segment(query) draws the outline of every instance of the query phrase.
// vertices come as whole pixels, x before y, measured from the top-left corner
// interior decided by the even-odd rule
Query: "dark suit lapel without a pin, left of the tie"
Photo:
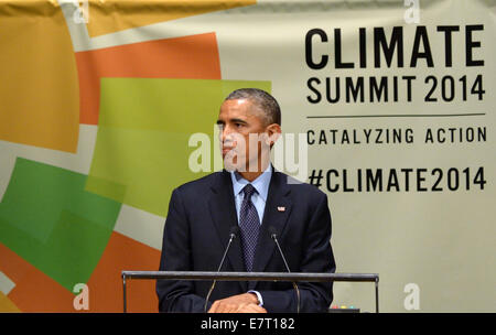
[[[211,208],[211,216],[224,251],[224,248],[227,247],[227,242],[229,241],[231,227],[238,224],[230,174],[227,171],[219,173],[217,180],[212,184],[211,188],[213,193],[208,199],[208,207]],[[227,253],[227,259],[234,271],[246,271],[245,261],[242,260],[241,240],[239,234],[233,240],[230,249]],[[223,266],[223,270],[224,269],[226,269],[226,264]],[[239,283],[246,291],[246,282]]]

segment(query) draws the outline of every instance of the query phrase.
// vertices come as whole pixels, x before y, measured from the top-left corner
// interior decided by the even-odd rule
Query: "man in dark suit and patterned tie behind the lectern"
[[[334,272],[326,195],[270,164],[281,134],[276,99],[259,89],[235,90],[223,102],[217,125],[225,170],[173,191],[160,270],[216,271],[237,225],[238,238],[222,271],[285,272],[271,239],[274,230],[291,272]],[[332,283],[298,287],[299,299],[289,282],[219,281],[206,305],[212,313],[327,310]],[[159,310],[204,312],[209,288],[205,281],[158,280]]]

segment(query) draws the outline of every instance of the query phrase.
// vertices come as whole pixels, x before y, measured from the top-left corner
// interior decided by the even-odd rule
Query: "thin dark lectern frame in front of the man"
[[[127,280],[216,280],[216,281],[289,281],[289,282],[374,282],[376,313],[379,313],[379,274],[305,273],[305,272],[202,272],[202,271],[122,271],[123,312],[127,312]]]

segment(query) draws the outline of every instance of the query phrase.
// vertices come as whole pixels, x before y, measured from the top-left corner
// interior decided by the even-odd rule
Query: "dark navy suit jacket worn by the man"
[[[293,180],[294,181],[294,180]],[[173,191],[165,220],[160,270],[217,271],[237,225],[233,183],[227,171],[216,172]],[[278,210],[285,207],[285,210]],[[271,239],[273,226],[291,272],[334,272],[331,215],[327,196],[309,184],[289,184],[288,175],[273,171],[260,227],[254,272],[287,272]],[[234,241],[222,271],[246,271],[240,237]],[[203,312],[209,281],[157,281],[159,311]],[[301,312],[325,312],[332,283],[299,283]],[[290,282],[218,281],[213,301],[259,291],[268,312],[295,312],[296,294]]]

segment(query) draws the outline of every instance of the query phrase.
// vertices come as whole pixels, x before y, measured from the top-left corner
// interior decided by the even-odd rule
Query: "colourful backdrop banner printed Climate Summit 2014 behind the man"
[[[120,312],[172,190],[222,169],[234,89],[325,192],[381,312],[494,312],[495,0],[0,0],[0,311]],[[493,41],[493,42],[492,42]],[[157,312],[153,281],[128,310]],[[370,283],[333,305],[375,311]]]

